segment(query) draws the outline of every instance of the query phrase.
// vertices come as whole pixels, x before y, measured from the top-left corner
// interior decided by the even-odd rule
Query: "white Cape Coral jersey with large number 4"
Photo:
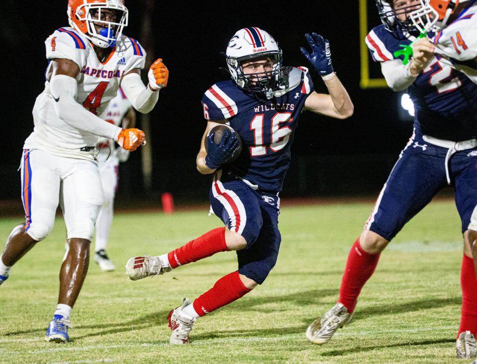
[[[49,62],[69,59],[78,65],[76,101],[102,119],[106,116],[109,101],[117,95],[121,77],[133,69],[143,69],[146,59],[146,52],[136,40],[121,35],[107,59],[100,62],[89,41],[71,27],[56,30],[47,38],[45,45]],[[51,64],[46,74],[50,67]],[[33,121],[34,130],[26,139],[24,148],[94,159],[97,136],[75,129],[58,118],[48,80],[33,107]]]

